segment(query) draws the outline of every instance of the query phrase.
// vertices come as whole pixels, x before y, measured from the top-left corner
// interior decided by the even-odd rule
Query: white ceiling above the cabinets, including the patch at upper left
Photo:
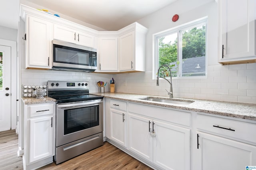
[[[0,25],[18,28],[19,0],[0,0]],[[26,0],[105,30],[115,31],[170,5],[176,0]],[[4,6],[4,8],[3,8]],[[18,9],[18,10],[17,10]],[[4,10],[4,11],[3,11]],[[60,16],[61,17],[61,16]],[[15,26],[16,25],[16,26]]]

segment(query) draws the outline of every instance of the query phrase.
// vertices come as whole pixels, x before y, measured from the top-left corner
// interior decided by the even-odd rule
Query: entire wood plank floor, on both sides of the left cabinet
[[[0,170],[22,170],[22,158],[17,157],[18,135],[15,131],[0,132]],[[4,150],[2,150],[4,149]],[[104,142],[102,147],[39,170],[152,170],[122,150]]]

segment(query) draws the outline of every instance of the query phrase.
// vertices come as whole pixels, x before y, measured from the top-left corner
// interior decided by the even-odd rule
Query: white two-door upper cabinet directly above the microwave
[[[66,25],[54,24],[53,39],[58,39],[61,41],[66,41],[94,48],[93,35],[90,35],[82,31],[78,31],[76,29],[72,29],[70,27],[67,27]]]

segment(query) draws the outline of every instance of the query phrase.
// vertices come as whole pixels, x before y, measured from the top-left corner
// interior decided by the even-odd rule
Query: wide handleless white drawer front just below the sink
[[[129,103],[129,112],[152,117],[152,119],[161,119],[179,125],[190,126],[191,114],[189,112],[164,109],[159,107],[145,106]]]

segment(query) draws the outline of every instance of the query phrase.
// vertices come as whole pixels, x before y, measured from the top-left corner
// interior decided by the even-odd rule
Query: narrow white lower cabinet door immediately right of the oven
[[[110,139],[126,147],[126,113],[110,109]]]

